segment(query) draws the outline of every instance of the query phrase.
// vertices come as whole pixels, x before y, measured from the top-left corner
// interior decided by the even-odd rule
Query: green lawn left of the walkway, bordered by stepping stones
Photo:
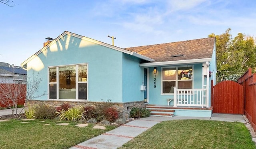
[[[50,120],[20,122],[17,120],[0,122],[0,149],[67,149],[116,128],[106,126],[105,130],[93,129],[92,124],[81,128],[75,126],[78,122],[68,122],[69,125],[63,126],[56,125],[56,122]],[[42,123],[50,125],[42,125]]]

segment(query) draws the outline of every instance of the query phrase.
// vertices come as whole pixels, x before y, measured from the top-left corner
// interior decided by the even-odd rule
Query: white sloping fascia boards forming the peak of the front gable
[[[91,38],[87,38],[85,36],[81,36],[81,35],[78,35],[78,34],[74,34],[74,33],[70,33],[68,31],[65,31],[63,34],[61,34],[60,36],[58,36],[56,39],[52,40],[52,42],[50,42],[50,44],[48,44],[47,46],[43,47],[41,50],[39,50],[38,52],[36,52],[36,54],[30,56],[30,58],[28,58],[27,60],[25,60],[21,66],[26,66],[26,64],[32,60],[35,56],[37,56],[38,54],[42,53],[44,50],[46,50],[48,47],[50,47],[52,44],[56,43],[60,38],[62,38],[63,36],[65,35],[70,35],[70,36],[74,36],[76,38],[80,38],[81,40],[87,40],[89,42],[92,42],[92,43],[95,43],[95,44],[98,44],[98,45],[101,45],[101,46],[105,46],[107,48],[111,48],[111,49],[114,49],[114,50],[117,50],[117,51],[120,51],[120,52],[123,52],[123,53],[126,53],[126,54],[130,54],[132,55],[132,52],[131,51],[128,51],[128,50],[125,50],[125,49],[122,49],[122,48],[119,48],[119,47],[116,47],[116,46],[112,46],[110,44],[106,44],[104,42],[100,42],[100,41],[97,41],[97,40],[94,40],[94,39],[91,39]],[[140,55],[140,54],[138,54]],[[134,55],[135,56],[135,55]],[[138,56],[136,56],[138,57]],[[150,62],[152,62],[152,59],[146,57],[146,56],[142,56],[140,55],[140,57],[138,58],[142,58],[143,60],[148,60]]]

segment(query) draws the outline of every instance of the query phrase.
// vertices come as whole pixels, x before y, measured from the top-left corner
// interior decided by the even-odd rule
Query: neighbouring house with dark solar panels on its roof
[[[20,66],[0,62],[0,83],[22,83],[26,84],[27,71]]]

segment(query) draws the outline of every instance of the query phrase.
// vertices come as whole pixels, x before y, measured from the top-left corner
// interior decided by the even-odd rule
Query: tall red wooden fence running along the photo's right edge
[[[244,86],[244,113],[256,131],[256,73],[249,68],[238,83]]]

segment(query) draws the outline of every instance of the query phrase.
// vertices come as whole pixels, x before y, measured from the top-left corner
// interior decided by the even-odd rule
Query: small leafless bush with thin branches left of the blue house
[[[20,82],[10,83],[10,81],[7,81],[8,79],[5,79],[5,81],[0,84],[0,103],[12,109],[12,115],[15,118],[20,116],[26,103],[28,103],[30,99],[46,95],[46,91],[44,91],[42,94],[34,96],[34,93],[38,92],[38,87],[42,81],[38,75],[39,73],[35,74],[35,71],[33,71],[32,77],[27,77],[26,84]],[[19,111],[18,104],[21,103],[22,100],[25,100],[24,107]]]

